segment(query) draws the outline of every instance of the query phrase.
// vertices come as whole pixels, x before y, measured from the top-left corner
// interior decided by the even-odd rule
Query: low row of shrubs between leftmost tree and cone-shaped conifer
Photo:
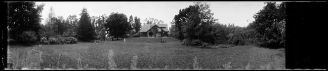
[[[43,44],[72,44],[72,43],[78,43],[78,39],[75,37],[50,37],[49,39],[46,39],[45,37],[41,38],[41,43]]]

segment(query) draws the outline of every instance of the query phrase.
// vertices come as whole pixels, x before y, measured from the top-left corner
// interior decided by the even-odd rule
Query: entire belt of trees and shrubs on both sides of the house
[[[45,24],[41,24],[41,11],[45,4],[35,2],[8,2],[7,20],[9,36],[22,41],[38,41],[42,37],[76,37],[82,41],[137,36],[140,31],[140,18],[123,13],[89,16],[86,8],[79,14],[64,19],[55,16],[50,8]],[[273,46],[285,45],[285,2],[265,2],[266,6],[254,14],[255,21],[247,27],[234,24],[223,25],[212,16],[209,4],[194,2],[180,9],[174,16],[169,28],[171,36],[183,40],[187,45],[202,44],[254,44],[264,43]],[[144,24],[161,24],[162,20],[146,18]]]

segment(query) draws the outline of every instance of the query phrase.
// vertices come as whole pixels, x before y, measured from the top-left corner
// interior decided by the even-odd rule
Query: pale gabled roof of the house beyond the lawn
[[[147,24],[147,25],[143,25],[142,26],[142,29],[139,31],[139,32],[147,32],[149,29],[151,29],[152,27],[150,26],[158,26],[158,27],[165,27],[165,29],[162,29],[164,30],[165,32],[168,32],[167,30],[167,24]]]

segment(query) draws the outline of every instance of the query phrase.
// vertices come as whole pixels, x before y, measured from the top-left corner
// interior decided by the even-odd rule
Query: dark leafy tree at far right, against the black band
[[[267,5],[253,17],[255,21],[250,25],[260,38],[268,45],[285,45],[285,2],[265,2]]]

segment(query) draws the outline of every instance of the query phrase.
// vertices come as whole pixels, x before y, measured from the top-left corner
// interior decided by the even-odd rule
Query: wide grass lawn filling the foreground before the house
[[[175,38],[126,38],[64,45],[10,45],[14,69],[285,69],[285,49],[205,49]]]

